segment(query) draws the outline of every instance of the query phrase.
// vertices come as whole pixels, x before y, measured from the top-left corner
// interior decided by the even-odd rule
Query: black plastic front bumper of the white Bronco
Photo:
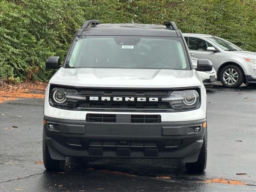
[[[196,162],[206,119],[184,122],[96,123],[44,117],[44,133],[52,159],[67,156],[114,158],[178,158]],[[50,125],[50,126],[49,126]],[[200,128],[194,132],[194,128]]]

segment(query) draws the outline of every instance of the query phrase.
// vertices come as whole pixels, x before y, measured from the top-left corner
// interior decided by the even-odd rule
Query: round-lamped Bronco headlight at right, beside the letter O
[[[174,91],[168,98],[162,101],[169,101],[172,108],[177,110],[195,108],[199,102],[199,94],[196,90]]]

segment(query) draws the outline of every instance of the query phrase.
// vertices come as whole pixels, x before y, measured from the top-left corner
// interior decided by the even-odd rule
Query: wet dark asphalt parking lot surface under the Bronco
[[[208,161],[188,174],[178,160],[68,158],[64,172],[42,164],[43,100],[0,104],[0,191],[256,191],[256,88],[207,91]]]

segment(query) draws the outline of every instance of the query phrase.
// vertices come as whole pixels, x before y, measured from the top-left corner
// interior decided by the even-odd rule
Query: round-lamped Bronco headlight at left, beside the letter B
[[[80,96],[76,90],[53,88],[50,93],[52,104],[58,106],[75,106],[79,100],[86,100],[85,96]]]

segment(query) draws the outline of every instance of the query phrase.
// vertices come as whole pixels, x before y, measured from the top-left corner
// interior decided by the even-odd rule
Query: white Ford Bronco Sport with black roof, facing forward
[[[206,168],[206,90],[174,22],[84,22],[45,93],[43,158],[176,158]],[[211,71],[199,59],[199,71]]]

